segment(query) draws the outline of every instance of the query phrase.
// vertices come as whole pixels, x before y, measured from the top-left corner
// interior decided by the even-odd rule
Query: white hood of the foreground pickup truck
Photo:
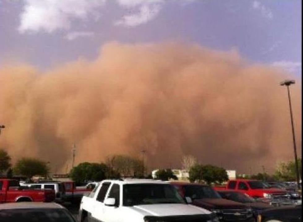
[[[131,207],[144,216],[174,216],[174,215],[196,215],[211,214],[210,211],[189,204],[147,204]]]

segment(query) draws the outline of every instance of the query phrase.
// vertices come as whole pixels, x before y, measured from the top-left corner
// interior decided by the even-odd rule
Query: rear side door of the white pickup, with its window
[[[96,201],[93,202],[91,221],[106,221],[104,216],[104,199],[110,187],[110,182],[103,182],[99,193],[97,194]],[[107,221],[106,221],[107,222]]]

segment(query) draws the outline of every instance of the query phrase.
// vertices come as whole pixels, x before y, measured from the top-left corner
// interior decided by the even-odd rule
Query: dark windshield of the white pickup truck
[[[185,203],[170,184],[125,184],[123,206],[157,203]]]

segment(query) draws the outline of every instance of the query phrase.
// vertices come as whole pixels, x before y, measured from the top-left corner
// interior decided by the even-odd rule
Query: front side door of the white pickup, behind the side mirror
[[[120,222],[120,185],[114,183],[110,187],[107,198],[115,198],[115,206],[106,206],[104,205],[103,213],[106,222]],[[125,218],[124,218],[125,219]]]

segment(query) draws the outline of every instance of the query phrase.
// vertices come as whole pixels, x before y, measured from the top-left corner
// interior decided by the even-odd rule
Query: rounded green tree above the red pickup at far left
[[[32,176],[46,176],[49,169],[45,162],[34,158],[22,158],[17,161],[13,168],[14,174],[32,178]]]

